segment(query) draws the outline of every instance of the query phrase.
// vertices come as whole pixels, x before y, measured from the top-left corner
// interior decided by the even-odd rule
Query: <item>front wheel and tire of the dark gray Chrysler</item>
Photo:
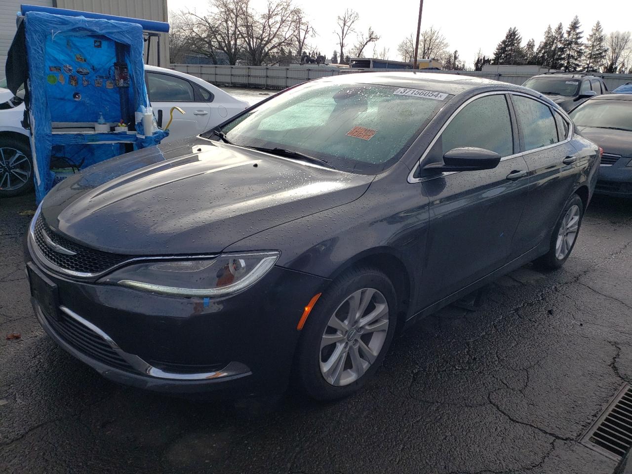
[[[303,327],[295,363],[299,388],[322,401],[360,390],[391,345],[396,301],[391,281],[380,270],[363,267],[337,278]],[[352,305],[356,310],[351,310]],[[365,310],[359,313],[362,305]]]

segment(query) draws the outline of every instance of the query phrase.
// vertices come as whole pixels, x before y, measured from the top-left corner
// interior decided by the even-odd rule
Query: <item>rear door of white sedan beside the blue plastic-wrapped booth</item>
[[[180,107],[185,111],[184,115],[178,111],[173,112],[173,121],[169,125],[169,137],[162,140],[163,143],[194,137],[208,130],[212,94],[176,75],[148,71],[145,76],[147,94],[159,126],[164,128],[169,123],[171,107]]]

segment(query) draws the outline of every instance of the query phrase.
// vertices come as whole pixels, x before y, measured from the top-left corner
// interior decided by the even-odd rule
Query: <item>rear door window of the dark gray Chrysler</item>
[[[523,95],[513,95],[511,100],[525,141],[525,150],[557,143],[557,126],[549,106]]]

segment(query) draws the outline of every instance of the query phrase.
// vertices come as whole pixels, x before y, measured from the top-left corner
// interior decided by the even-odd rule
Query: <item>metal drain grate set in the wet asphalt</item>
[[[611,403],[588,428],[581,443],[619,461],[632,447],[632,390],[621,387]]]

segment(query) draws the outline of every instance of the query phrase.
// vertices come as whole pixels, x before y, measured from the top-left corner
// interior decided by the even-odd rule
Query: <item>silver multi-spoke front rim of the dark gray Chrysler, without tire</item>
[[[389,329],[389,305],[374,288],[358,289],[331,315],[320,342],[320,373],[342,387],[360,379],[379,356]]]

